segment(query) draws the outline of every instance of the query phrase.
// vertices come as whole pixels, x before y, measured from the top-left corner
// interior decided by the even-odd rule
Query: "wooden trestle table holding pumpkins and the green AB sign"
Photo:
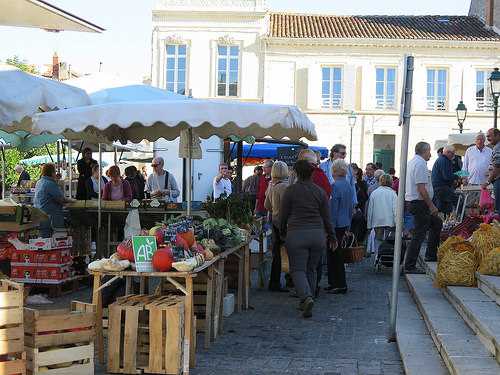
[[[150,277],[158,277],[163,281],[173,285],[185,296],[184,324],[185,324],[185,343],[184,350],[189,353],[190,366],[195,365],[194,346],[190,343],[193,335],[194,321],[194,289],[193,279],[200,274],[206,274],[207,298],[205,302],[205,347],[210,345],[212,340],[217,338],[218,333],[222,331],[223,319],[223,300],[224,300],[224,262],[228,257],[238,258],[238,288],[237,288],[237,311],[248,308],[249,289],[250,289],[250,253],[249,242],[240,244],[237,247],[228,249],[216,255],[210,261],[206,261],[200,267],[191,272],[136,272],[136,271],[90,271],[94,277],[94,287],[92,292],[92,303],[96,306],[96,345],[98,351],[98,360],[104,363],[104,337],[102,331],[102,290],[111,285],[115,280],[124,278],[126,283],[126,294],[131,294],[132,279],[140,279],[140,293],[144,294],[146,282]],[[112,278],[102,283],[104,276]],[[161,285],[162,283],[160,283]],[[161,289],[161,288],[160,288]],[[152,293],[151,293],[152,294]],[[189,366],[184,363],[184,374],[189,373]]]

